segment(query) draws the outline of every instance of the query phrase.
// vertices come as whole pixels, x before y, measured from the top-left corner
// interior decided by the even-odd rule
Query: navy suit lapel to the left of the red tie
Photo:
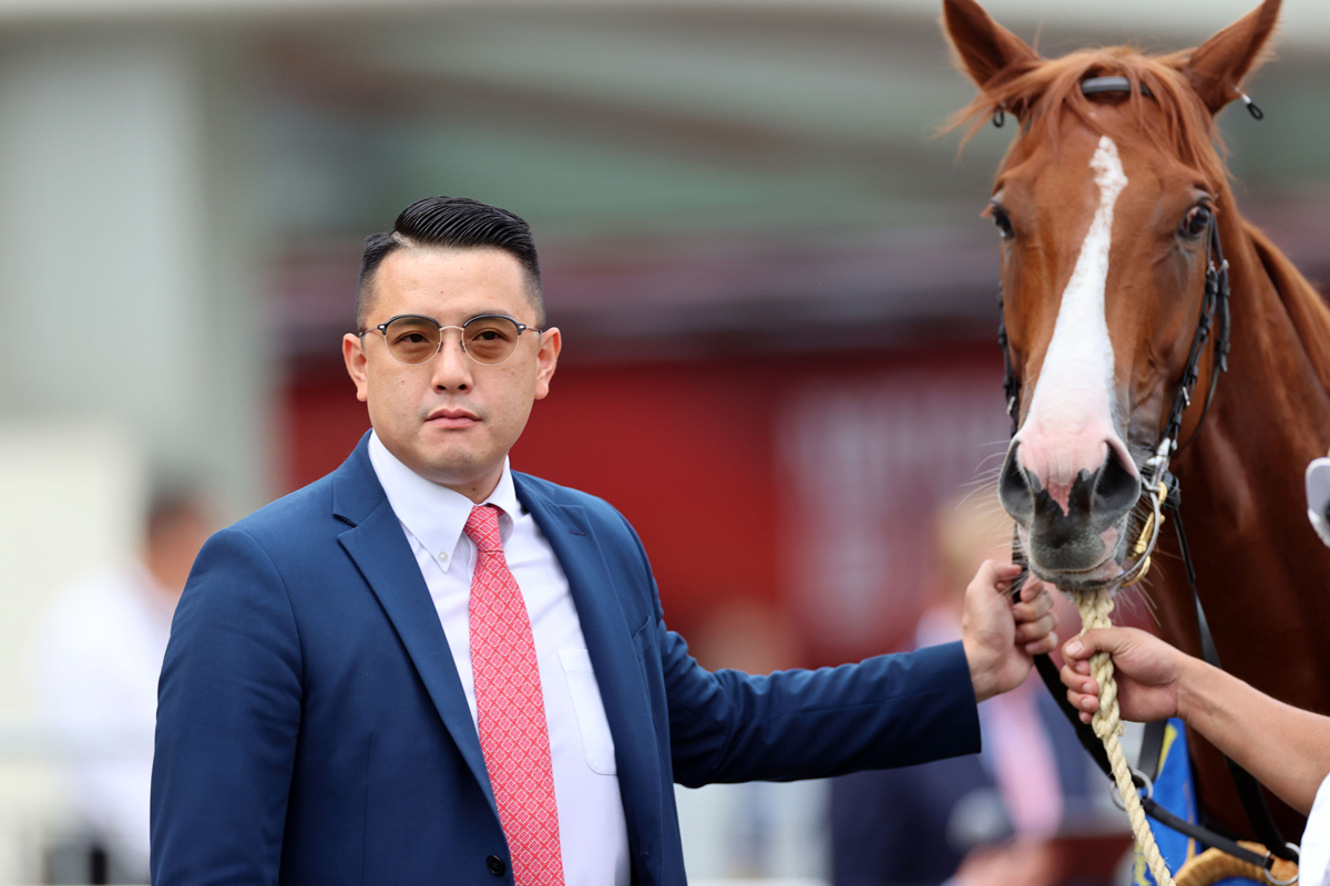
[[[364,513],[371,505],[372,509]],[[489,785],[484,754],[480,752],[476,724],[471,719],[448,639],[439,623],[439,612],[434,608],[430,588],[420,575],[402,523],[374,474],[363,440],[338,472],[334,506],[342,519],[354,525],[338,541],[388,614],[444,727],[497,816],[499,808]]]

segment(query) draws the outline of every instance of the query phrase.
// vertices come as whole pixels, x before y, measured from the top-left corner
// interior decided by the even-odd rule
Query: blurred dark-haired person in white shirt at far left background
[[[86,882],[148,882],[157,677],[176,603],[213,529],[201,493],[158,490],[140,555],[68,587],[36,632],[35,688],[85,832],[72,866],[88,863]]]

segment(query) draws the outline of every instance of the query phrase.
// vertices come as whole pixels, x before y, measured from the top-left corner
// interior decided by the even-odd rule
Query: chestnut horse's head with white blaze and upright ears
[[[1238,224],[1214,116],[1242,97],[1279,0],[1197,49],[1061,58],[1040,57],[975,0],[943,5],[980,90],[958,122],[1017,122],[986,210],[1020,384],[999,497],[1036,575],[1068,591],[1112,586],[1196,336],[1210,228]],[[1200,389],[1212,371],[1213,359]]]

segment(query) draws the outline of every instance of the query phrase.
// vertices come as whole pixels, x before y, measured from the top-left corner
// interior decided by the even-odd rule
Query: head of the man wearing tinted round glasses
[[[390,340],[395,327],[382,328],[403,315],[446,327],[439,351],[424,363],[403,363],[400,336]],[[496,365],[479,347],[464,352],[463,333],[452,328],[487,316],[517,324],[511,356]],[[420,323],[434,335],[428,321]],[[476,201],[439,197],[411,205],[392,231],[364,243],[356,325],[359,335],[344,336],[342,356],[383,445],[422,477],[481,501],[532,404],[549,392],[561,345],[559,329],[541,331],[531,228]]]

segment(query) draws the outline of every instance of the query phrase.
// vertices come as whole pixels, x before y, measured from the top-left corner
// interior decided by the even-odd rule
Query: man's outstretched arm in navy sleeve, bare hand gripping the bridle
[[[1008,598],[1017,570],[986,563],[962,643],[819,671],[708,672],[658,620],[676,780],[786,781],[979,751],[976,699],[1019,685],[1053,648],[1048,590]]]

